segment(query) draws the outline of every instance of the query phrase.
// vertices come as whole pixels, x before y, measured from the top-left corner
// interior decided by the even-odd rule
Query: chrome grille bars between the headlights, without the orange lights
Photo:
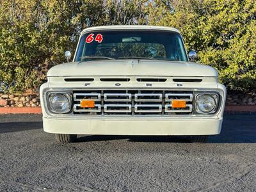
[[[86,90],[74,91],[76,115],[189,115],[193,91]],[[186,108],[173,108],[172,100],[186,100]],[[95,108],[81,108],[80,100],[95,100]]]

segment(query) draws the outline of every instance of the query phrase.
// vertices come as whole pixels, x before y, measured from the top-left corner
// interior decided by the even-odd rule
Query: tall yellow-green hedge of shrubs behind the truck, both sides
[[[6,92],[38,88],[65,51],[74,54],[82,29],[112,24],[178,28],[228,89],[256,90],[253,0],[1,0],[0,84]]]

